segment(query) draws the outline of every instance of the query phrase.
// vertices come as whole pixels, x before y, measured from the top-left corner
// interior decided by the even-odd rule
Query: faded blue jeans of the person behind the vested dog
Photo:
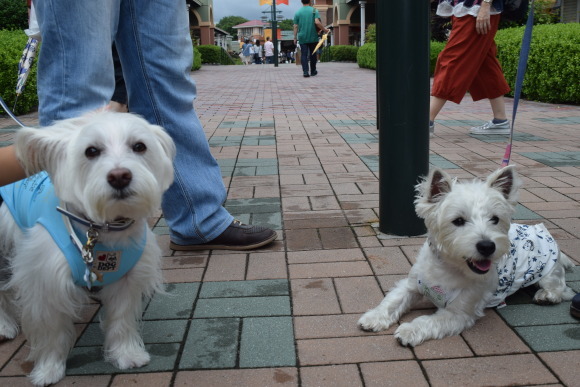
[[[193,47],[184,0],[35,0],[42,34],[40,124],[107,105],[115,89],[111,46],[123,66],[130,110],[164,127],[177,146],[175,182],[163,196],[171,240],[203,243],[233,217],[193,109]]]

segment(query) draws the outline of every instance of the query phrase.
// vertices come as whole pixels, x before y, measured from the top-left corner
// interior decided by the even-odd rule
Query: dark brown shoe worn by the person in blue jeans
[[[217,238],[197,245],[178,245],[170,242],[169,248],[178,251],[195,250],[252,250],[274,241],[276,231],[262,226],[250,226],[234,220]]]

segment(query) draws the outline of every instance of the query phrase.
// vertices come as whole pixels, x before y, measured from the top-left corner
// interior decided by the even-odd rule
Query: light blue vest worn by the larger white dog
[[[139,261],[146,242],[146,228],[140,238],[132,240],[128,247],[111,246],[97,243],[93,249],[93,269],[102,274],[102,281],[92,284],[85,281],[87,269],[79,249],[73,244],[67,227],[56,207],[59,200],[54,186],[46,172],[0,188],[0,195],[8,206],[16,224],[26,232],[37,223],[52,236],[63,252],[70,266],[74,283],[79,286],[104,286],[111,284],[127,274]],[[87,242],[85,234],[73,226],[82,244]],[[41,262],[41,260],[39,260]]]

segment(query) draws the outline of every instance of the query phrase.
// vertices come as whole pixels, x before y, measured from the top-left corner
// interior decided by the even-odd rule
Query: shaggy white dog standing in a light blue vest
[[[21,129],[16,152],[27,171],[48,175],[0,190],[0,339],[14,338],[20,322],[31,381],[56,383],[87,289],[99,289],[105,359],[120,369],[147,364],[142,298],[162,290],[147,216],[173,182],[173,141],[138,116],[103,112]]]

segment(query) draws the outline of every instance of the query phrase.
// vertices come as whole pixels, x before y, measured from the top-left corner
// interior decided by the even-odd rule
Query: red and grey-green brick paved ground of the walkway
[[[384,239],[372,227],[375,72],[339,63],[319,72],[305,79],[295,65],[205,66],[193,74],[226,207],[277,229],[278,240],[249,253],[174,253],[159,213],[151,221],[169,295],[144,313],[151,363],[121,372],[102,360],[93,304],[59,385],[578,386],[580,325],[569,303],[535,306],[527,292],[460,336],[415,349],[400,347],[394,328],[357,329],[360,314],[408,272],[423,238]],[[486,102],[448,104],[430,141],[431,164],[462,178],[497,168],[506,136],[468,134],[488,119]],[[23,120],[36,124],[35,115]],[[544,222],[578,265],[580,108],[523,101],[516,127],[512,161],[525,181],[516,218]],[[15,129],[0,118],[0,145]],[[579,266],[568,280],[580,291]],[[423,303],[403,321],[431,312]],[[0,345],[0,384],[28,384],[27,353],[22,336]]]

